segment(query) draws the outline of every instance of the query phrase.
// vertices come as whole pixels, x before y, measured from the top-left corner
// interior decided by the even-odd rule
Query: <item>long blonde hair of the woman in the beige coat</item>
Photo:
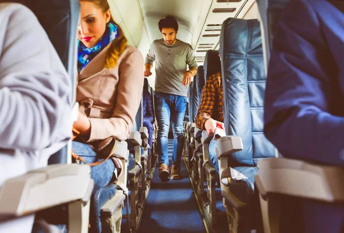
[[[96,7],[100,8],[104,13],[110,9],[108,0],[79,0],[79,1],[89,1],[93,2]],[[114,18],[111,15],[111,20],[116,25],[118,37],[112,41],[109,49],[108,56],[106,58],[106,62],[104,64],[105,68],[113,68],[117,65],[117,61],[119,56],[123,53],[125,50],[125,47],[127,46],[127,38],[125,38],[123,30],[121,27],[115,23]]]

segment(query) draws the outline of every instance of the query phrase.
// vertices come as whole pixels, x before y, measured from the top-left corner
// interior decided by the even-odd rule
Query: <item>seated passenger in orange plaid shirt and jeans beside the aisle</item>
[[[223,116],[222,77],[221,72],[218,72],[210,76],[203,87],[201,103],[196,116],[196,127],[206,130],[209,136],[213,136],[215,129],[225,129]],[[209,159],[219,173],[216,147],[217,141],[212,139],[209,144]]]

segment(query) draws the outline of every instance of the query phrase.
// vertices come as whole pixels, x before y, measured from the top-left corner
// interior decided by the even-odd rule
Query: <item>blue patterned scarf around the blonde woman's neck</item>
[[[80,40],[78,41],[78,71],[82,69],[99,54],[109,43],[118,37],[118,28],[114,22],[107,24],[104,35],[99,42],[92,48],[87,48]]]

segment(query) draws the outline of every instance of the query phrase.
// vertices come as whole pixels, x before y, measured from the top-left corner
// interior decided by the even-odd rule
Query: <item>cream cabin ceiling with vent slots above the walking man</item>
[[[199,65],[207,50],[218,47],[222,22],[242,18],[255,0],[139,0],[149,42],[162,38],[158,22],[166,15],[178,21],[177,38],[195,50]]]

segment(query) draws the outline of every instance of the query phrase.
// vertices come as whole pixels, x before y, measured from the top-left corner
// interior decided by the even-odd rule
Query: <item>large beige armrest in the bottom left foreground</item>
[[[57,188],[59,187],[59,188]],[[90,167],[54,164],[6,180],[0,189],[0,219],[19,217],[55,205],[90,199]]]

